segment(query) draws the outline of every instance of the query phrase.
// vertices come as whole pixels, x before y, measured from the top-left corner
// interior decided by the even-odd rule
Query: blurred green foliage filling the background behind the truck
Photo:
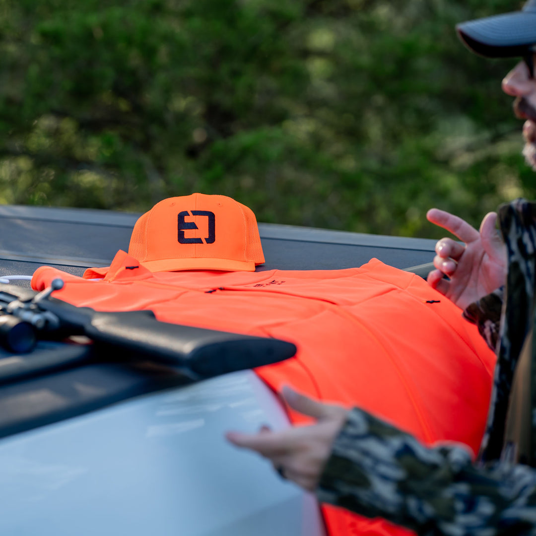
[[[0,202],[438,236],[536,197],[500,81],[454,25],[511,0],[0,0]]]

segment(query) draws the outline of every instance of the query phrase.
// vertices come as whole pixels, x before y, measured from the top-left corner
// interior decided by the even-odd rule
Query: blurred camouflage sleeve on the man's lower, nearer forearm
[[[420,535],[536,535],[536,471],[475,467],[464,445],[427,448],[358,409],[333,444],[317,495]]]

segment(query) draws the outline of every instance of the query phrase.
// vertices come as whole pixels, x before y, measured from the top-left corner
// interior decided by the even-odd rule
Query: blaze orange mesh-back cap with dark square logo
[[[254,272],[264,263],[255,214],[226,196],[169,197],[138,219],[129,255],[151,272]]]

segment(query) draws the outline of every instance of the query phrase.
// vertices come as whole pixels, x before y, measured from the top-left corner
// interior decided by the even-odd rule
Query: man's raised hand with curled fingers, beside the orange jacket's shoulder
[[[461,309],[504,285],[507,276],[506,247],[497,234],[497,214],[489,212],[480,224],[480,232],[453,214],[430,209],[428,221],[457,236],[465,245],[450,238],[437,242],[436,270],[428,274],[428,284]],[[443,279],[443,276],[450,281]]]

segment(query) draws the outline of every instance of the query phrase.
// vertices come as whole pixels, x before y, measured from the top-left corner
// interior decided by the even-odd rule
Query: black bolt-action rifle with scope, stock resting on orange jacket
[[[160,322],[150,310],[100,312],[73,306],[51,296],[63,285],[62,279],[54,279],[36,293],[0,284],[0,346],[21,354],[32,352],[38,340],[85,336],[112,359],[178,367],[192,379],[260,367],[296,353],[287,341]],[[27,364],[21,366],[27,371]],[[18,375],[11,371],[10,378]]]

